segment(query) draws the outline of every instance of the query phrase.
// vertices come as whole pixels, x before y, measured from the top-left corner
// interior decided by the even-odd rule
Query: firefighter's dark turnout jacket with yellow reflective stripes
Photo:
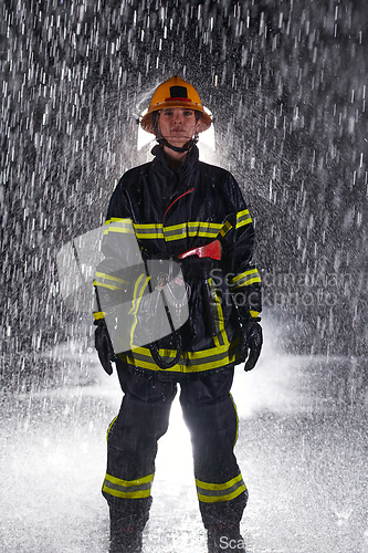
[[[125,173],[112,196],[102,247],[105,260],[95,278],[105,301],[95,317],[106,314],[107,304],[125,301],[128,289],[129,316],[138,316],[139,298],[153,290],[153,278],[143,278],[137,251],[128,251],[127,237],[134,232],[144,259],[180,263],[188,291],[189,317],[179,330],[181,355],[166,375],[234,365],[242,346],[239,311],[243,316],[261,311],[261,279],[251,265],[254,229],[249,210],[232,175],[199,161],[197,146],[178,174],[166,163],[160,146],[153,154],[153,161]],[[214,240],[221,242],[221,260],[178,260],[182,252]],[[132,347],[118,357],[139,371],[162,371],[148,344],[135,346],[129,332]],[[172,336],[158,341],[158,347],[166,359],[175,357]]]

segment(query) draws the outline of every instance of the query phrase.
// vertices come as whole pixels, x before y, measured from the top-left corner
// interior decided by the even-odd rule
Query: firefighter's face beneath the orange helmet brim
[[[159,113],[158,128],[172,146],[181,148],[196,133],[194,109],[166,107]]]

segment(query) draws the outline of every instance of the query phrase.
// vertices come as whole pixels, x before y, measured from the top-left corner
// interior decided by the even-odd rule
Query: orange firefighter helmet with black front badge
[[[211,125],[211,117],[204,112],[198,92],[178,75],[171,76],[156,88],[148,112],[141,117],[141,127],[148,133],[156,134],[153,114],[165,107],[187,107],[198,112],[198,133],[202,133]]]

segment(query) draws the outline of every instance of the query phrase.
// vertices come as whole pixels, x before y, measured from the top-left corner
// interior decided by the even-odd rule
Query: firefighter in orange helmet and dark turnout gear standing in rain
[[[254,229],[232,175],[199,161],[198,134],[210,127],[211,117],[192,85],[177,75],[164,82],[140,125],[156,136],[155,157],[119,180],[107,211],[105,259],[95,276],[96,348],[108,374],[115,362],[124,392],[107,434],[103,483],[111,552],[141,551],[157,441],[168,428],[178,388],[208,551],[245,551],[240,521],[248,490],[233,452],[238,418],[230,388],[234,366],[246,359],[245,371],[252,369],[262,346],[261,279],[251,264]],[[140,264],[128,260],[132,234]],[[154,259],[180,268],[189,316],[179,330],[171,324],[165,337],[138,345],[132,338],[129,351],[117,352],[106,313],[123,298],[126,302],[130,290],[135,309],[126,324],[132,313],[138,317],[139,300],[161,290],[158,275],[147,269]]]

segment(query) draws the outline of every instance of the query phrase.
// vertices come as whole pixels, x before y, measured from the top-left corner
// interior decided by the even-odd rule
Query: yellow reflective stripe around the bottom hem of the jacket
[[[234,340],[230,343],[230,347],[229,344],[224,344],[220,347],[211,347],[199,352],[182,352],[179,363],[174,365],[169,372],[199,373],[201,371],[210,371],[211,368],[230,365],[239,361],[239,345],[240,340]],[[177,352],[174,349],[160,348],[159,354],[162,358],[172,359]],[[148,347],[133,346],[132,352],[120,353],[118,357],[136,367],[147,368],[149,371],[162,371],[156,365]]]

